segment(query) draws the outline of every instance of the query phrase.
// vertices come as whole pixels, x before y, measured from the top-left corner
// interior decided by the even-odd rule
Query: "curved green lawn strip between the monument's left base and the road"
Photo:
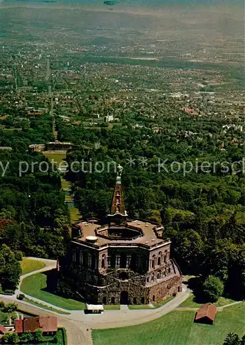
[[[59,295],[54,295],[53,293],[49,293],[46,288],[47,277],[43,273],[30,275],[23,279],[21,284],[22,293],[41,299],[42,301],[48,302],[59,308],[68,309],[69,311],[84,310],[84,303],[75,301],[74,299],[67,299],[60,297]]]

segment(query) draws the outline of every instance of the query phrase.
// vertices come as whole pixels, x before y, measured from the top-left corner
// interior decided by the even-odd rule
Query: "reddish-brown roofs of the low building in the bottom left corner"
[[[41,328],[43,332],[57,332],[57,317],[27,317],[23,320],[16,320],[15,330],[17,333],[35,332]]]

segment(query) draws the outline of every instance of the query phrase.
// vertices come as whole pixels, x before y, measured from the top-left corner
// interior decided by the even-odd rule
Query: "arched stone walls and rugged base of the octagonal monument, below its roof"
[[[90,303],[148,304],[182,290],[182,276],[170,259],[170,244],[144,248],[84,248],[72,242],[62,265],[59,290]]]

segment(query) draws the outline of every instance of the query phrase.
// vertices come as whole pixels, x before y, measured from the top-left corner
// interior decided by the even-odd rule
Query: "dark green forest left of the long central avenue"
[[[21,131],[0,130],[0,146],[12,147],[12,151],[0,150],[2,166],[9,162],[6,173],[0,172],[0,262],[6,263],[0,269],[3,290],[14,290],[21,273],[19,262],[15,260],[13,265],[12,259],[6,261],[6,256],[57,259],[64,255],[66,238],[70,238],[70,215],[61,192],[59,173],[51,169],[47,173],[39,172],[36,165],[35,171],[19,174],[20,161],[30,166],[32,161],[48,162],[41,152],[33,155],[28,152],[30,144],[48,139],[52,139],[52,122],[48,117],[31,119],[28,128],[23,121]],[[10,250],[10,255],[5,254],[6,250]],[[5,273],[9,271],[14,275],[14,282],[11,279],[6,282]]]

